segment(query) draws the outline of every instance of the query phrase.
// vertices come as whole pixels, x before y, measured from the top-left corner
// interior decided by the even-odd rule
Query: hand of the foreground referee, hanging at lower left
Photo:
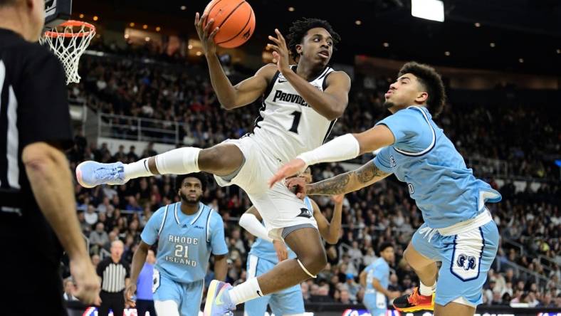
[[[75,297],[86,305],[100,305],[100,278],[90,258],[71,259],[70,274],[76,283]]]

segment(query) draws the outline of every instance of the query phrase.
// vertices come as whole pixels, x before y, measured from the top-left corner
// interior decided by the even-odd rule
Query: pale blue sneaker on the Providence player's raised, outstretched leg
[[[125,167],[122,162],[102,164],[100,162],[82,162],[76,167],[76,179],[85,188],[100,184],[125,184]]]

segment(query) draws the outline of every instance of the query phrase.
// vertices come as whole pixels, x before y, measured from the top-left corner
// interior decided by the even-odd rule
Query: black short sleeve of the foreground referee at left
[[[63,66],[46,48],[37,47],[23,64],[16,98],[21,120],[21,148],[33,142],[73,144],[68,93]]]

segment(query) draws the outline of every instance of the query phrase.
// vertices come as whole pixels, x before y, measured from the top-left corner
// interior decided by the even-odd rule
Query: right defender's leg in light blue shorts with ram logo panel
[[[495,260],[498,241],[494,221],[439,238],[442,266],[436,283],[435,316],[473,316],[483,302],[481,289]]]

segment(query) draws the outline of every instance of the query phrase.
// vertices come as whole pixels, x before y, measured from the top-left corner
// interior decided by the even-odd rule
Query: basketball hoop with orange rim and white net
[[[95,26],[83,21],[70,20],[54,27],[51,31],[46,31],[39,38],[39,43],[41,45],[48,43],[51,51],[63,63],[67,85],[80,82],[78,62],[93,36],[95,36]]]

